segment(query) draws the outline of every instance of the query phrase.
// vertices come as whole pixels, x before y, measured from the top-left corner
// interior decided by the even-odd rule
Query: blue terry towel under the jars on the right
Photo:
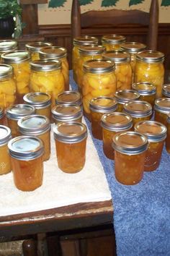
[[[76,89],[72,73],[71,86]],[[91,124],[86,119],[91,132]],[[114,161],[105,157],[102,141],[93,138],[107,176],[114,206],[117,256],[170,255],[170,155],[164,148],[156,171],[145,172],[133,186],[117,182]]]

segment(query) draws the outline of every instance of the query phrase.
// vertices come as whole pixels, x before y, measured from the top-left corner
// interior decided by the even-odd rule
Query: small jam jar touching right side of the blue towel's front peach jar
[[[125,103],[129,101],[136,101],[140,98],[137,90],[117,90],[115,93],[115,99],[117,100],[117,112],[122,112]]]

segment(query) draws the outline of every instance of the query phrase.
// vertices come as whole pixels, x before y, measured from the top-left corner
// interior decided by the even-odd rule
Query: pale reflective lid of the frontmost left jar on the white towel
[[[42,140],[35,136],[14,137],[8,142],[9,154],[19,160],[32,160],[44,153]]]

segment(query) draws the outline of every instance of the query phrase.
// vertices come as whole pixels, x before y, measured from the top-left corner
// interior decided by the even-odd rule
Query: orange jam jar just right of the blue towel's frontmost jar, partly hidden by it
[[[148,138],[144,171],[154,171],[161,161],[167,129],[159,121],[139,121],[134,128],[135,132],[143,133]]]

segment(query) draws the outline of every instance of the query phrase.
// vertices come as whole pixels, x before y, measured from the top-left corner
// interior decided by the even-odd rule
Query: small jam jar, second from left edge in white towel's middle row
[[[6,110],[7,124],[12,131],[12,137],[17,137],[20,135],[17,121],[24,116],[29,116],[32,114],[35,114],[35,108],[28,104],[12,105]]]

